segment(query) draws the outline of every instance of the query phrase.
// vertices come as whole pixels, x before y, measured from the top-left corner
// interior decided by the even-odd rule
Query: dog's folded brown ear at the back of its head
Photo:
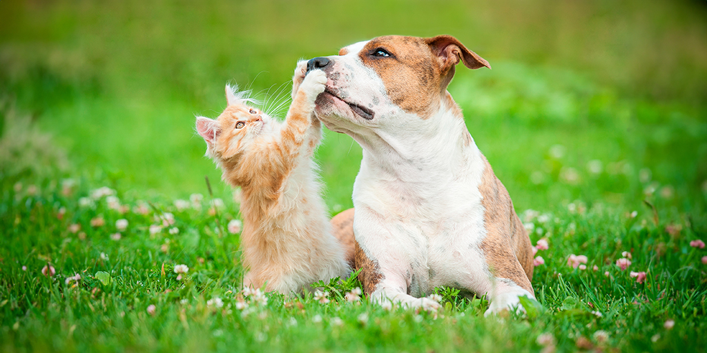
[[[425,38],[425,42],[430,46],[432,52],[437,55],[443,72],[459,64],[460,60],[468,68],[482,68],[484,66],[491,68],[489,61],[484,60],[477,53],[464,47],[464,44],[451,35]]]

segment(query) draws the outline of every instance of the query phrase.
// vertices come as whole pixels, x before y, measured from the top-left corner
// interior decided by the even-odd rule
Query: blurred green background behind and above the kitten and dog
[[[389,34],[489,60],[449,90],[516,208],[650,198],[704,217],[705,1],[3,0],[1,176],[183,198],[208,175],[228,195],[194,133],[224,84],[288,95],[298,59]],[[329,207],[349,207],[361,149],[327,131],[317,159]]]

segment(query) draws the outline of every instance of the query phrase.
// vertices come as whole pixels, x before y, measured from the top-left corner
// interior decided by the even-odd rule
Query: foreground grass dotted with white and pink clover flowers
[[[4,352],[518,352],[542,348],[537,337],[543,333],[554,337],[559,351],[643,352],[680,345],[690,352],[705,344],[707,276],[701,257],[707,252],[689,245],[704,234],[703,218],[675,223],[661,218],[666,212],[659,208],[656,225],[650,210],[632,217],[583,203],[525,213],[532,240],[548,239],[550,249],[539,251],[545,259],[533,280],[539,303],[524,317],[484,318],[487,301],[457,297],[451,289],[440,289],[445,309],[436,316],[387,311],[366,298],[352,304],[341,300],[356,287],[352,281],[328,287],[328,304],[311,294],[268,294],[266,305],[250,301],[244,311],[235,306],[242,277],[238,234],[218,228],[237,218],[237,204],[226,201],[216,216],[209,201],[182,210],[151,202],[141,214],[134,210],[144,203],[124,198],[121,190],[124,211],[111,206],[116,201],[110,198],[90,198],[83,182],[71,189],[51,182],[36,187],[2,185]],[[168,212],[173,225],[151,234],[151,225],[170,219]],[[96,219],[105,224],[96,225]],[[111,234],[118,232],[119,219],[129,225],[115,240]],[[80,229],[72,232],[70,225]],[[177,234],[168,230],[174,227]],[[622,251],[633,255],[624,271],[615,264]],[[568,266],[570,253],[588,256],[588,269]],[[41,273],[47,263],[56,269],[53,277]],[[189,272],[177,280],[173,268],[181,263]],[[645,282],[637,283],[631,271],[645,271]],[[81,280],[67,280],[76,273]],[[216,297],[223,307],[206,304]],[[675,323],[670,330],[664,327],[668,320]],[[597,331],[608,339],[602,341]]]

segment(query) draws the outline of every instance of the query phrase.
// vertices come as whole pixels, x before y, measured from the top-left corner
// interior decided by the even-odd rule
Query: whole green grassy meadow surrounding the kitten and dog
[[[705,18],[703,1],[3,0],[0,349],[703,351]],[[221,112],[227,82],[273,100],[300,58],[445,33],[493,66],[459,68],[449,90],[549,243],[537,303],[484,318],[483,298],[440,288],[436,315],[387,310],[346,301],[353,280],[329,303],[244,297],[238,202],[194,116]],[[361,148],[327,131],[317,160],[329,210],[351,207]]]

